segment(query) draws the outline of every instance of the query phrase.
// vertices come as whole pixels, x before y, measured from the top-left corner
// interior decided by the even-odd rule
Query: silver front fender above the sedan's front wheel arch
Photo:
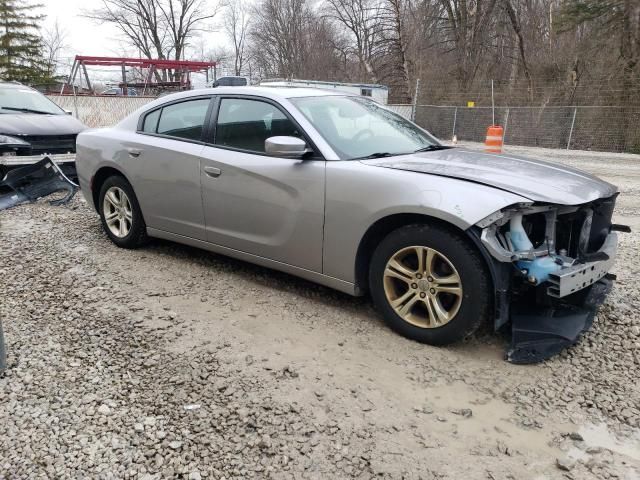
[[[355,283],[360,242],[386,217],[418,214],[467,230],[495,211],[523,202],[530,200],[469,181],[357,161],[327,162],[323,273]]]

